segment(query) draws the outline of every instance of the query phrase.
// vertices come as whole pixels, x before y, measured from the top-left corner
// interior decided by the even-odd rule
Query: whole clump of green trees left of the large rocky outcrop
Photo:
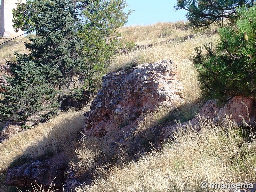
[[[51,101],[52,106],[57,99],[51,92],[55,87],[60,90],[59,102],[70,92],[76,96],[82,94],[69,90],[76,76],[85,89],[92,90],[93,79],[104,70],[118,46],[109,37],[124,25],[131,12],[123,11],[124,0],[98,0],[85,6],[87,3],[87,0],[28,0],[26,4],[17,4],[13,10],[14,27],[36,28],[36,36],[30,36],[31,42],[25,43],[30,54],[16,54],[17,62],[9,62],[13,76],[6,92],[1,92],[2,120],[16,118],[22,106],[25,106],[25,112],[19,115],[22,120],[40,110],[45,100]],[[23,83],[26,78],[27,86]],[[15,110],[13,101],[20,104]]]

